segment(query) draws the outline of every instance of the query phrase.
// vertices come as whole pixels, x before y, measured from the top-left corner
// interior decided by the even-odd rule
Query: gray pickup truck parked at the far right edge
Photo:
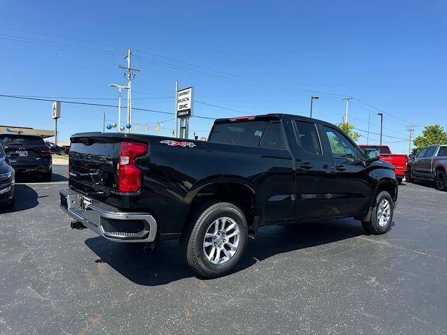
[[[410,157],[408,181],[430,179],[439,191],[447,191],[447,145],[430,145]]]

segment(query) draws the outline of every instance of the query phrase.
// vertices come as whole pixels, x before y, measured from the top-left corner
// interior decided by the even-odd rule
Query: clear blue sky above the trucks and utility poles
[[[345,111],[342,96],[353,96],[358,100],[351,101],[350,123],[367,130],[371,114],[370,131],[379,133],[376,113],[383,111],[383,135],[390,136],[384,144],[407,152],[410,122],[418,125],[416,135],[427,124],[447,128],[446,19],[447,3],[440,0],[98,0],[45,6],[6,0],[0,13],[0,94],[101,98],[75,101],[116,105],[117,91],[108,84],[126,84],[118,65],[131,47],[133,66],[141,70],[133,80],[134,107],[173,112],[179,80],[180,87],[195,87],[197,101],[227,108],[196,103],[196,115],[308,115],[314,94],[321,96],[314,117],[335,123]],[[50,102],[0,99],[0,124],[54,127]],[[63,103],[59,139],[101,131],[103,112],[108,123],[117,121],[115,108]],[[168,135],[173,116],[133,113],[140,133],[147,123],[155,133],[161,121],[159,134]],[[191,133],[207,135],[211,125],[193,118]],[[364,143],[367,134],[361,134],[358,142]],[[369,135],[370,143],[378,140]]]

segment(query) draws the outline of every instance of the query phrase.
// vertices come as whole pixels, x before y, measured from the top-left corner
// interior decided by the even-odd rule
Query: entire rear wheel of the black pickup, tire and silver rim
[[[242,211],[229,202],[198,209],[180,239],[189,267],[207,278],[228,273],[247,245],[248,227]]]

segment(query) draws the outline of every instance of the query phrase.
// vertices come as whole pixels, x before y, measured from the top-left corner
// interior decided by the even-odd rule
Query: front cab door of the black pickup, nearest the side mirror
[[[332,158],[335,168],[330,216],[368,211],[372,187],[362,152],[336,128],[321,125],[320,130],[323,154]]]

